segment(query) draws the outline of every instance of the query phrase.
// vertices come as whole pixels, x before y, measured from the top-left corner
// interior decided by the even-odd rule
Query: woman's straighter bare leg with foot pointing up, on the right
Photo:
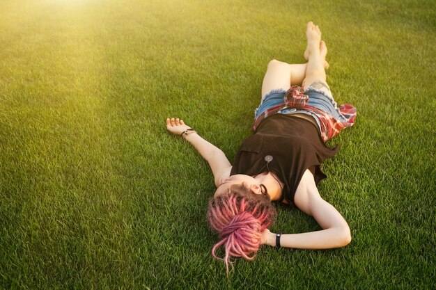
[[[307,24],[307,54],[309,62],[306,67],[306,77],[303,81],[303,86],[310,86],[315,81],[325,83],[325,56],[327,55],[327,47],[325,42],[321,40],[321,31],[318,26],[312,22]],[[320,88],[329,92],[328,88]]]

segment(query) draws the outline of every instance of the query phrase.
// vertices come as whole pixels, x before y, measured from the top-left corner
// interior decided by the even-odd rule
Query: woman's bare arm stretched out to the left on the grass
[[[191,127],[179,118],[167,118],[166,129],[173,134],[181,135],[185,130],[191,129]],[[212,169],[214,175],[215,185],[219,186],[219,184],[221,184],[221,179],[223,177],[228,177],[232,168],[231,163],[228,162],[224,152],[215,145],[209,143],[207,140],[201,138],[201,136],[196,133],[184,134],[184,138],[195,147],[205,161],[208,161],[210,169]]]

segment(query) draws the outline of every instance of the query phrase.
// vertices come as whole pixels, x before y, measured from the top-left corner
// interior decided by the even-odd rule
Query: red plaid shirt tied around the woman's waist
[[[251,130],[256,131],[256,128],[263,119],[286,108],[297,108],[299,110],[308,111],[316,116],[316,118],[318,118],[320,121],[321,138],[324,140],[324,142],[327,142],[327,140],[330,138],[338,135],[339,132],[346,127],[351,127],[353,124],[355,124],[357,110],[354,106],[350,104],[342,104],[339,108],[339,111],[345,118],[345,121],[339,121],[333,118],[333,116],[329,113],[326,113],[319,108],[306,105],[308,100],[309,96],[304,95],[304,90],[302,88],[299,86],[291,86],[283,98],[283,103],[277,104],[276,106],[272,106],[271,108],[263,111],[255,120]]]

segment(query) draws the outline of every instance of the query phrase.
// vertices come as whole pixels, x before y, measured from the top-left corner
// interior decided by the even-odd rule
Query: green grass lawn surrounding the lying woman
[[[433,1],[0,1],[0,289],[435,289]],[[207,163],[233,160],[267,62],[320,25],[357,122],[320,192],[353,241],[212,259]],[[319,229],[279,207],[272,231]]]

